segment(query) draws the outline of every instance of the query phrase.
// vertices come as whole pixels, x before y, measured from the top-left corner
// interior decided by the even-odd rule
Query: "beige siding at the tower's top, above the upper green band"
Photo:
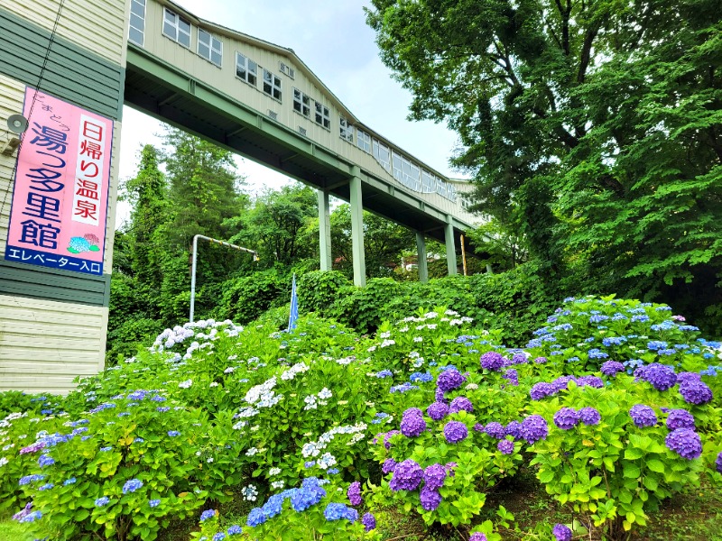
[[[0,6],[52,31],[60,0],[0,0]],[[57,33],[121,66],[125,65],[126,0],[66,0]]]

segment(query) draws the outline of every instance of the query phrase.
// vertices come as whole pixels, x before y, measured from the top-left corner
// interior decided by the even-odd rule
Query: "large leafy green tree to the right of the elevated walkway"
[[[548,277],[722,302],[718,0],[372,0],[412,118],[446,120],[477,204]]]

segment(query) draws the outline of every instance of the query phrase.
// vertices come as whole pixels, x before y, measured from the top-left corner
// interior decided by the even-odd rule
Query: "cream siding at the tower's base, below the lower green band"
[[[106,307],[0,295],[0,391],[65,393],[102,370]]]

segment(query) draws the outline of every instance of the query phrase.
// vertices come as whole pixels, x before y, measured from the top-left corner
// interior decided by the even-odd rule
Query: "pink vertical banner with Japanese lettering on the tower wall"
[[[5,260],[103,274],[113,121],[25,88]]]

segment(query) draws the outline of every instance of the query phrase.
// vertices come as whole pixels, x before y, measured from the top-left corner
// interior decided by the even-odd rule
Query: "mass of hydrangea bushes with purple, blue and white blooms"
[[[391,506],[495,541],[511,514],[477,515],[524,464],[579,518],[532,535],[621,538],[701,475],[722,484],[720,346],[669,307],[569,298],[524,347],[473,324],[167,329],[67,397],[0,396],[0,511],[58,540],[195,516],[218,541],[374,538]],[[230,500],[258,507],[234,521]]]

